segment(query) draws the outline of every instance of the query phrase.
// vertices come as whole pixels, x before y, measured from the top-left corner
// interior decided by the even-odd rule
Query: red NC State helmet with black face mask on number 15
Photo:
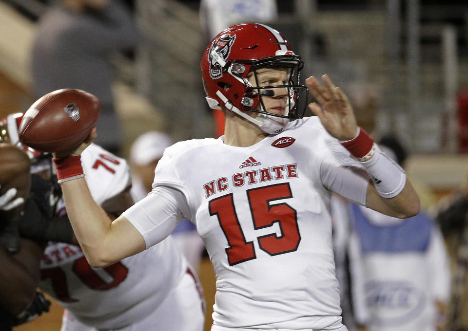
[[[247,79],[249,72],[263,67],[289,69],[288,85],[253,86]],[[299,85],[299,71],[303,67],[300,56],[292,52],[284,37],[273,28],[258,23],[237,24],[218,34],[206,49],[201,60],[203,86],[210,108],[228,110],[246,117],[245,111],[256,111],[283,118],[302,118],[307,106],[308,90]],[[258,85],[258,80],[255,81]],[[261,95],[273,95],[271,89],[287,88],[289,112],[286,115],[267,113]],[[269,91],[270,90],[270,91]],[[305,102],[298,109],[299,95]],[[258,106],[260,110],[255,110]]]

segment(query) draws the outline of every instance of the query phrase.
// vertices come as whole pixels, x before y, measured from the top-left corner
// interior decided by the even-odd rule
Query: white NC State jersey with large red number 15
[[[356,162],[317,117],[296,120],[250,147],[222,138],[167,148],[153,184],[180,190],[188,202],[216,273],[214,324],[337,329],[333,183],[324,177]],[[357,201],[365,199],[368,182],[362,183]]]

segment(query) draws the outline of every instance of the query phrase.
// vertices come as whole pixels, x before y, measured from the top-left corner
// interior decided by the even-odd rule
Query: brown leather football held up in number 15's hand
[[[41,152],[78,147],[96,126],[101,104],[91,93],[62,89],[39,98],[24,113],[20,141]]]

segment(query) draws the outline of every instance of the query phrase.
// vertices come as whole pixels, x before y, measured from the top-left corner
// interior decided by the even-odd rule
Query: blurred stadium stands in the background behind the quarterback
[[[41,18],[57,3],[58,0],[0,1],[0,118],[27,110],[38,98],[32,63],[50,58],[34,58],[34,46]],[[305,61],[302,80],[310,74],[317,77],[329,74],[350,96],[359,124],[376,140],[388,135],[398,137],[409,152],[405,169],[416,186],[424,211],[435,217],[441,205],[466,194],[467,3],[456,0],[121,0],[120,3],[137,27],[134,42],[116,47],[108,57],[112,71],[111,111],[115,112],[121,130],[120,136],[114,136],[118,137],[121,156],[129,157],[132,143],[147,131],[165,132],[173,141],[217,136],[219,125],[203,97],[201,54],[219,29],[242,21],[259,21],[281,31],[302,56]],[[72,41],[62,51],[76,54],[80,47],[78,41]],[[98,79],[99,75],[95,73],[90,80]],[[112,131],[110,135],[113,136]],[[457,243],[453,245],[458,247]],[[449,253],[452,268],[457,270],[457,261],[461,263],[462,257],[456,248]],[[211,265],[204,268],[200,269],[200,278],[206,279],[207,287],[213,287]],[[208,308],[213,302],[210,293],[206,295]]]

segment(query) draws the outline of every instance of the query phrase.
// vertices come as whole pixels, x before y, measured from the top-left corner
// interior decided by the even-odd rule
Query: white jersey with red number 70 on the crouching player
[[[102,203],[125,190],[125,160],[97,145],[81,155],[93,198]],[[58,214],[64,216],[64,202]],[[49,242],[41,260],[40,289],[79,321],[97,329],[120,329],[142,320],[163,302],[188,265],[171,238],[104,268],[92,268],[78,246]]]

